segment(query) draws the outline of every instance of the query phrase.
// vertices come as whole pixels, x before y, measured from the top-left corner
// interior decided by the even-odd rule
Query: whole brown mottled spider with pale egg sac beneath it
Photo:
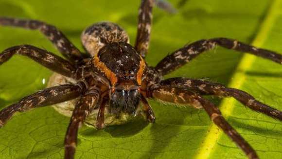
[[[141,0],[135,46],[117,24],[101,22],[84,30],[81,36],[83,54],[54,26],[37,20],[0,17],[1,26],[41,31],[66,58],[32,45],[18,45],[0,54],[0,64],[13,55],[27,56],[54,71],[49,88],[40,90],[0,111],[0,127],[16,113],[55,105],[55,109],[71,116],[65,137],[65,159],[74,159],[77,133],[83,123],[103,129],[106,125],[123,124],[134,116],[144,116],[153,123],[156,118],[147,99],[158,99],[177,105],[203,108],[219,128],[233,140],[249,159],[258,159],[256,151],[234,130],[220,110],[203,95],[233,97],[248,108],[282,120],[282,112],[257,101],[247,92],[218,83],[183,77],[163,79],[201,53],[216,45],[248,52],[282,64],[282,55],[228,38],[214,38],[190,43],[155,67],[146,64],[152,24],[154,0]]]

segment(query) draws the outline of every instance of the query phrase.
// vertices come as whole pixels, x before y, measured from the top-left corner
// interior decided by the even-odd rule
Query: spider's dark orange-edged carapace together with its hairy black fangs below
[[[109,113],[134,114],[140,102],[140,86],[146,64],[128,43],[103,46],[90,64],[109,81]]]

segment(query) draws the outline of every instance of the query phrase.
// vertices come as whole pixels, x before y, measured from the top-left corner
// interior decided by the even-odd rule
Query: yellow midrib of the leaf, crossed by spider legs
[[[268,10],[268,14],[265,17],[256,38],[251,43],[252,45],[257,47],[262,46],[277,16],[279,15],[280,4],[281,0],[273,0],[271,7]],[[255,58],[256,56],[244,54],[241,62],[235,70],[233,78],[231,78],[229,87],[240,88],[242,86],[246,78],[245,72],[251,67]],[[234,102],[235,100],[233,98],[227,98],[221,102],[219,108],[224,117],[231,115],[234,109]],[[220,137],[220,135],[222,135],[222,133],[223,132],[221,130],[219,131],[219,128],[212,123],[194,159],[208,159],[213,151],[213,147],[215,146],[217,139]]]

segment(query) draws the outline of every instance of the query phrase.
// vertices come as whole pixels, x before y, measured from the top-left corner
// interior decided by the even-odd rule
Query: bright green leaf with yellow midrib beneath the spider
[[[171,0],[178,13],[154,9],[150,52],[154,66],[186,43],[229,37],[282,52],[281,0]],[[90,24],[120,24],[134,43],[139,0],[0,0],[0,15],[40,19],[60,28],[80,49],[80,33]],[[0,27],[0,50],[33,44],[60,55],[37,31]],[[282,110],[281,65],[218,47],[168,77],[209,78],[243,89],[258,100]],[[0,109],[43,89],[51,71],[25,57],[15,56],[0,66]],[[220,101],[229,123],[261,159],[282,159],[282,123],[258,114],[232,99]],[[142,120],[79,131],[77,159],[246,159],[245,154],[216,128],[204,110],[177,108],[150,101],[157,121]],[[0,159],[61,159],[69,118],[52,107],[18,113],[0,129]]]

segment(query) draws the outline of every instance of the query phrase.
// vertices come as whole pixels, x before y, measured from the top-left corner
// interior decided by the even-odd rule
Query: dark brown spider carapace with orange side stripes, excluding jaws
[[[91,64],[94,71],[98,70],[107,77],[111,87],[140,86],[146,69],[143,58],[128,43],[106,44]]]

